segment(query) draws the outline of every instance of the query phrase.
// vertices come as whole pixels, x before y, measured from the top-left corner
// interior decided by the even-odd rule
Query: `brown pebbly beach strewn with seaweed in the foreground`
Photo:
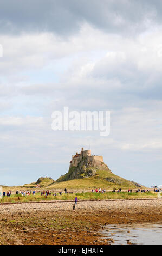
[[[21,203],[0,205],[1,245],[112,245],[108,224],[158,222],[161,199]]]

